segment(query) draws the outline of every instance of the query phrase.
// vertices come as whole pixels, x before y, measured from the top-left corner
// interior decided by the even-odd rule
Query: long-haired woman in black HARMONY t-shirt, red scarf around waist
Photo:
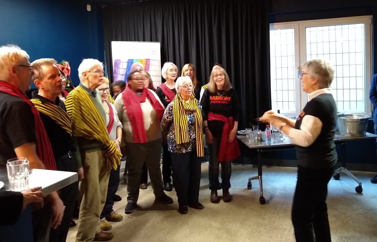
[[[210,162],[208,163],[210,201],[219,202],[217,190],[222,189],[224,202],[232,200],[229,194],[231,162],[240,155],[234,138],[239,119],[239,103],[236,91],[232,88],[229,76],[219,65],[212,68],[210,82],[201,98],[203,132],[208,142]],[[221,185],[219,182],[221,163]]]

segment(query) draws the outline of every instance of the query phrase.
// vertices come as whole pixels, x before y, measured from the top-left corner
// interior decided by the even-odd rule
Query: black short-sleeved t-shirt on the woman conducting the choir
[[[338,159],[335,149],[336,104],[333,95],[322,93],[310,100],[297,118],[295,128],[300,129],[305,115],[317,117],[322,122],[322,129],[317,139],[308,147],[296,145],[296,157],[299,165],[305,168],[325,169],[333,167]]]

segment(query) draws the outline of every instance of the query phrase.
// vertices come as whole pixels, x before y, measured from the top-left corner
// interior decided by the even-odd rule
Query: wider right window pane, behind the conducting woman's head
[[[331,87],[339,111],[365,112],[364,25],[358,23],[306,28],[307,60],[323,57],[335,69]]]

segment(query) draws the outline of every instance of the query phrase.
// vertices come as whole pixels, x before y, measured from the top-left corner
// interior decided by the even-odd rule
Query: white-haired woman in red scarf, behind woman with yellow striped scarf
[[[159,85],[156,89],[156,94],[160,98],[164,107],[167,107],[169,103],[175,97],[177,91],[175,89],[175,79],[178,76],[178,67],[172,62],[166,62],[161,69],[161,75],[166,80],[165,83]],[[162,180],[164,181],[165,191],[172,191],[172,185],[170,182],[170,176],[172,176],[172,159],[167,149],[167,143],[162,143]]]

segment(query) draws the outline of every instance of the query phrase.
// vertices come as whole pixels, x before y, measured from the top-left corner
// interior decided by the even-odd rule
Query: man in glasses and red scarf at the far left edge
[[[0,47],[0,160],[27,157],[30,168],[56,170],[51,145],[38,110],[25,95],[33,66],[18,46]],[[55,191],[46,197],[51,204],[52,228],[61,223],[64,204]],[[33,213],[33,220],[36,216]],[[49,223],[33,223],[34,241],[48,239]],[[46,237],[47,236],[47,237]]]

